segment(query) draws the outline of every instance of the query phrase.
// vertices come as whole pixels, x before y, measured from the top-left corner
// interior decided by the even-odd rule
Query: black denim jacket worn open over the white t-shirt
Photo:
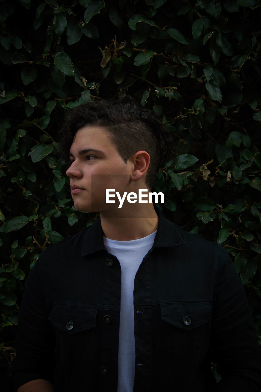
[[[134,391],[260,391],[252,314],[228,253],[157,213],[133,292]],[[46,249],[19,310],[15,388],[47,379],[59,392],[116,392],[120,288],[100,221]]]

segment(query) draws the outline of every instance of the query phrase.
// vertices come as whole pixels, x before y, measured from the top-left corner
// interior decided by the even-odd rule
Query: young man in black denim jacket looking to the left
[[[135,198],[169,156],[161,121],[133,102],[84,104],[61,147],[75,207],[100,219],[46,249],[27,280],[15,390],[259,391],[251,310],[227,252]]]

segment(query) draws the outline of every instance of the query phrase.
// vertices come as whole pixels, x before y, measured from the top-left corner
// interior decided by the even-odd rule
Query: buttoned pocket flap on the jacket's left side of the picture
[[[77,306],[54,306],[49,320],[55,327],[74,334],[95,327],[97,309]]]

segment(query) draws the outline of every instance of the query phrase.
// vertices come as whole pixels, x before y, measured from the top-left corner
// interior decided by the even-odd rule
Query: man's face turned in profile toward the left
[[[133,163],[125,163],[110,133],[103,127],[86,126],[78,130],[70,149],[71,194],[78,211],[95,212],[117,208],[106,204],[106,189],[128,190]]]

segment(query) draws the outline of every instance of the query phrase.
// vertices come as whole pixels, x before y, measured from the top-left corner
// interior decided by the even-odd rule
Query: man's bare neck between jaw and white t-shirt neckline
[[[131,207],[119,212],[100,211],[100,222],[105,237],[117,241],[131,241],[146,237],[157,230],[159,218],[153,204]]]

